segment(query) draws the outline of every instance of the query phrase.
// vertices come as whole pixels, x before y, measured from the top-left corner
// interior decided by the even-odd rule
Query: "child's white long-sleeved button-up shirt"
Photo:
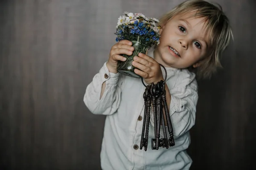
[[[195,74],[187,69],[166,70],[171,94],[169,114],[175,137],[175,146],[169,149],[151,150],[153,115],[148,150],[138,148],[143,127],[141,118],[144,118],[145,86],[141,79],[110,73],[105,63],[87,86],[84,95],[87,108],[93,114],[107,115],[100,154],[103,170],[188,170],[191,166],[192,159],[186,149],[190,144],[189,130],[195,125],[198,85]],[[165,76],[163,69],[162,72]],[[103,82],[106,88],[100,99]]]

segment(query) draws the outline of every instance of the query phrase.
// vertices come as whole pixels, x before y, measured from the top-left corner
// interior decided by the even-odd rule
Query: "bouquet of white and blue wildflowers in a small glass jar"
[[[159,44],[160,26],[159,20],[155,18],[148,18],[145,15],[138,13],[124,12],[124,15],[118,18],[116,26],[117,35],[116,41],[129,40],[133,42],[134,53],[131,56],[123,54],[126,61],[118,61],[117,71],[131,77],[140,78],[139,75],[134,73],[134,66],[131,65],[133,57],[139,53],[146,53],[153,45]]]

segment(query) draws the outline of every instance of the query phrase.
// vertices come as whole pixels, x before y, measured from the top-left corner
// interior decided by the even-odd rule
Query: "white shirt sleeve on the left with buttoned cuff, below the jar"
[[[118,80],[119,73],[110,73],[105,62],[99,73],[93,77],[93,81],[87,86],[84,94],[84,104],[90,112],[103,115],[115,113],[121,97],[121,81]],[[103,82],[106,82],[106,87],[100,99]]]

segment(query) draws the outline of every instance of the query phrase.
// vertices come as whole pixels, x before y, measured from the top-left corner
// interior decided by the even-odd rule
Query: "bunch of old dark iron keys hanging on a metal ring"
[[[161,66],[164,68],[166,77],[167,77],[167,71],[165,67],[163,65]],[[164,81],[161,80],[160,82],[157,82],[156,85],[152,83],[151,85],[148,85],[148,86],[144,84],[143,78],[141,78],[143,85],[146,87],[145,92],[143,94],[145,109],[144,109],[143,130],[142,130],[141,141],[140,141],[141,150],[143,147],[145,147],[145,151],[146,151],[148,147],[148,130],[149,130],[149,123],[150,123],[151,103],[153,105],[153,111],[154,111],[153,115],[154,115],[154,136],[155,136],[155,139],[151,139],[152,150],[154,149],[158,150],[159,147],[169,148],[169,146],[175,145],[172,122],[170,119],[169,110],[166,102],[166,91],[165,91],[166,77]],[[164,122],[163,110],[165,113],[167,128],[170,136],[168,142],[167,142],[167,133],[166,133],[166,127]],[[160,126],[161,126],[160,122],[162,123],[163,135],[164,135],[164,138],[162,139],[160,139]]]

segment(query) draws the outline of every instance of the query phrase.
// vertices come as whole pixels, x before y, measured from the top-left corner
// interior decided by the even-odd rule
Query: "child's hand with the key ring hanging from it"
[[[134,72],[144,78],[145,82],[150,85],[152,82],[156,84],[163,80],[162,70],[158,62],[152,57],[139,53],[139,57],[135,56],[132,65],[138,69]]]

